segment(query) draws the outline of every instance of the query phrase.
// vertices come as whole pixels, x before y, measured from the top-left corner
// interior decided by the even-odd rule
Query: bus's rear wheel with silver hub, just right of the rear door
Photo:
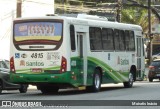
[[[92,92],[99,92],[101,88],[101,75],[98,69],[95,69],[93,74],[93,85],[91,86]]]

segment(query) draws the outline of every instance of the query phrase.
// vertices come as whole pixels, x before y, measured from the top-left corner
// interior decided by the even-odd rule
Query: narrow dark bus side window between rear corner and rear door
[[[71,50],[76,50],[76,44],[75,44],[75,30],[74,26],[70,25],[70,42],[71,42]]]

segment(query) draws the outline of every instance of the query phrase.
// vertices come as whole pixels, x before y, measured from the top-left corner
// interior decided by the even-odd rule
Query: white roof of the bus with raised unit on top
[[[142,27],[135,24],[126,24],[108,21],[105,17],[86,15],[86,14],[63,14],[63,15],[48,15],[43,17],[25,17],[16,18],[15,20],[29,20],[29,19],[67,19],[70,23],[79,25],[100,26],[116,29],[137,30],[142,31]]]

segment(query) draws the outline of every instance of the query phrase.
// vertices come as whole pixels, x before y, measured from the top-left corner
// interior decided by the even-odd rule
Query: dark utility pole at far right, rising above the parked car
[[[148,0],[148,36],[149,42],[149,64],[152,61],[152,34],[151,34],[151,0]]]

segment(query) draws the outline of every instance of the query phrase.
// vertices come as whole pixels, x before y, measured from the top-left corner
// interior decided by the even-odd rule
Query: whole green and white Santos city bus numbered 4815
[[[45,16],[13,21],[10,79],[42,93],[132,87],[145,72],[142,28],[98,16]]]

